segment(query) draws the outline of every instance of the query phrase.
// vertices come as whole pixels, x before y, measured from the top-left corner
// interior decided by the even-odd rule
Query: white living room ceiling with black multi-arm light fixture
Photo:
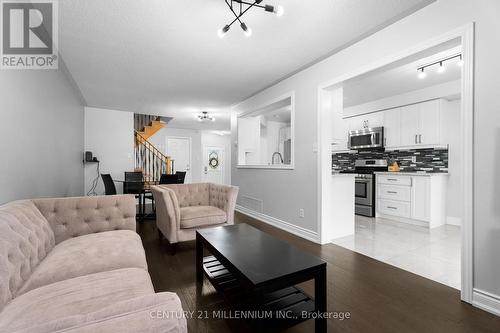
[[[433,0],[265,0],[245,37],[224,0],[64,0],[60,53],[88,106],[172,116],[171,126],[227,129],[227,107]],[[215,123],[195,114],[210,110]],[[203,127],[205,128],[205,127]]]

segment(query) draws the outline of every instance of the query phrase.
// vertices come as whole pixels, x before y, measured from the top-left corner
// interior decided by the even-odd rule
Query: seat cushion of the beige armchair
[[[195,228],[220,224],[227,220],[226,212],[212,206],[191,206],[181,208],[181,228]]]

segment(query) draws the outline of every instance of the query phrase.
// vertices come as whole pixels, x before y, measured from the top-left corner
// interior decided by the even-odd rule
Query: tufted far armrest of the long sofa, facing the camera
[[[136,228],[133,195],[34,199],[33,203],[49,222],[56,244],[96,232]]]

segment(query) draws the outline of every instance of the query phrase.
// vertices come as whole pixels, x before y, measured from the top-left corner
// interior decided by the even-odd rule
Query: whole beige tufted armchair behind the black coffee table
[[[194,240],[196,229],[234,223],[239,190],[236,186],[169,184],[153,186],[151,190],[160,238],[165,236],[171,245]]]

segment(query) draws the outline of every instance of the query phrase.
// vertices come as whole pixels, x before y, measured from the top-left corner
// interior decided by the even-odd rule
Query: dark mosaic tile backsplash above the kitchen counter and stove
[[[415,158],[415,162],[412,158]],[[448,172],[448,149],[410,149],[393,151],[359,151],[333,153],[332,170],[354,170],[357,159],[396,160],[401,171]]]

